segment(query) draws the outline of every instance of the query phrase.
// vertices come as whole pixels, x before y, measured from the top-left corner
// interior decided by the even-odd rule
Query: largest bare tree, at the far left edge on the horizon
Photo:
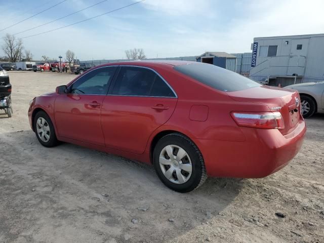
[[[11,34],[6,34],[4,37],[5,44],[2,46],[5,54],[8,56],[10,62],[16,62],[22,57],[22,51],[24,49],[22,40],[16,38]]]

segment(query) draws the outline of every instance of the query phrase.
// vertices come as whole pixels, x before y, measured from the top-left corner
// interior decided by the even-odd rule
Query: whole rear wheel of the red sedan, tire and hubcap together
[[[169,134],[157,142],[153,165],[159,179],[178,192],[192,191],[207,178],[199,149],[189,138],[178,133]]]

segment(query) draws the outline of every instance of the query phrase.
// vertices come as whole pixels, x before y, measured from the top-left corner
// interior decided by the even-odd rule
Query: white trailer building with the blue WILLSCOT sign
[[[250,78],[287,86],[324,79],[324,34],[256,37]]]

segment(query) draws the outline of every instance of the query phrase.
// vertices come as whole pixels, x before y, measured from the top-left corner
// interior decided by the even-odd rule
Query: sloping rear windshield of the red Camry
[[[247,90],[261,86],[247,77],[212,64],[189,63],[175,66],[174,69],[196,79],[200,83],[225,92]]]

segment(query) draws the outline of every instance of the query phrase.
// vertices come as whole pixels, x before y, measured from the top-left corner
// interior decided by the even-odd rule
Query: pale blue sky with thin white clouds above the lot
[[[62,0],[0,0],[0,29],[41,12]],[[76,12],[102,0],[64,3],[0,32],[14,34]],[[30,30],[25,37],[84,20],[136,0],[108,0],[54,23]],[[177,57],[205,51],[250,52],[253,37],[324,32],[322,0],[220,1],[145,0],[129,8],[46,34],[23,38],[34,59],[65,56],[80,60],[125,58],[125,50],[143,48],[147,57]],[[0,50],[0,56],[4,53]]]

